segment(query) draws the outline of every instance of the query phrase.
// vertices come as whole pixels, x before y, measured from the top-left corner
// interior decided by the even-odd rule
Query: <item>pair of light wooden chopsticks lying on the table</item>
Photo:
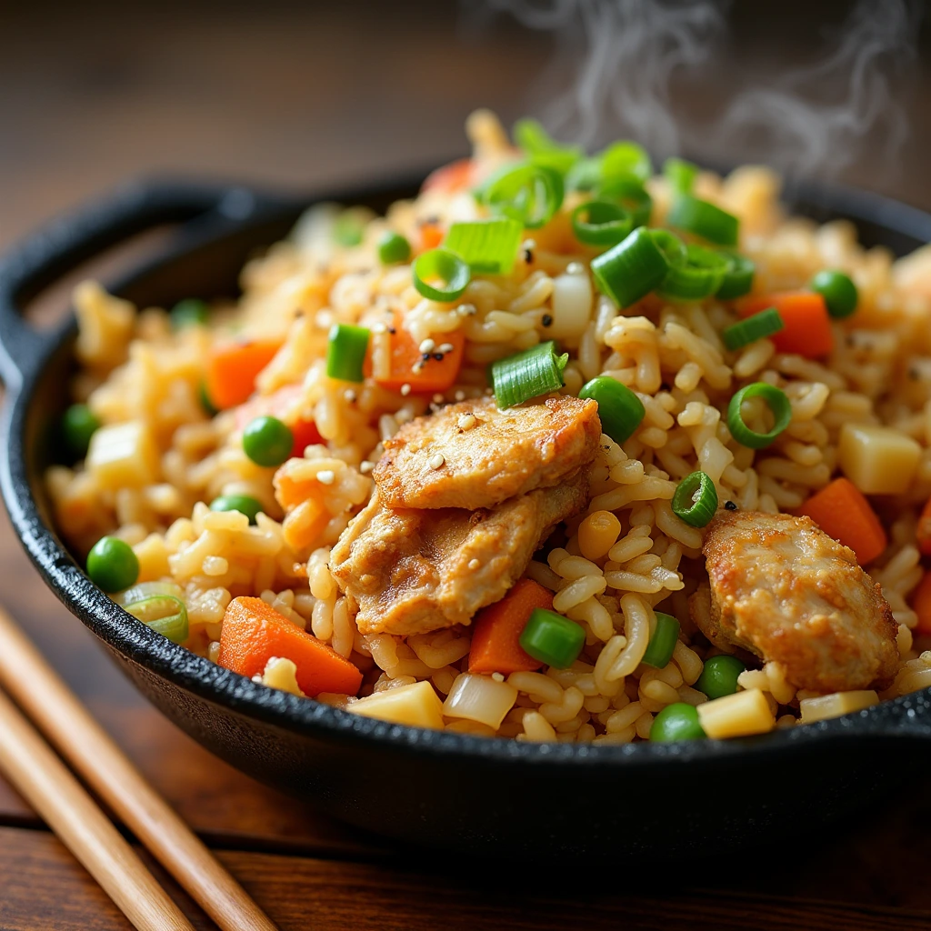
[[[0,609],[0,771],[140,931],[194,931],[26,715],[223,931],[277,931]],[[24,713],[23,713],[24,712]]]

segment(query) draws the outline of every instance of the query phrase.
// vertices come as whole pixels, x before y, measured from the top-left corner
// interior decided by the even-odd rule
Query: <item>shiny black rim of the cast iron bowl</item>
[[[417,177],[419,179],[423,175]],[[403,187],[410,180],[405,178],[398,182],[393,179],[385,182],[384,188]],[[238,188],[254,190],[248,185],[238,185]],[[340,191],[339,197],[341,200],[364,201],[366,196],[371,196],[372,190],[371,185],[360,187],[358,197],[354,197],[352,191]],[[807,182],[796,185],[795,193],[829,209],[837,216],[850,217],[855,222],[878,223],[906,236],[915,236],[915,231],[931,231],[931,214],[870,192]],[[256,197],[261,196],[256,194]],[[294,196],[287,201],[288,209],[294,209],[294,205],[299,203],[310,206],[327,199],[333,198]],[[897,222],[894,222],[895,218]],[[249,216],[239,219],[243,226],[249,224]],[[223,238],[228,233],[229,229],[217,238]],[[155,263],[134,268],[115,281],[112,290],[119,293],[143,274],[151,275],[157,267],[170,263],[177,254],[169,252]],[[47,586],[65,607],[110,647],[115,657],[147,669],[184,692],[228,708],[237,715],[312,738],[349,744],[375,744],[385,749],[421,756],[467,757],[472,761],[490,764],[533,764],[536,771],[541,765],[560,769],[580,765],[639,768],[657,763],[666,764],[668,761],[690,764],[731,758],[749,761],[761,754],[771,756],[806,752],[813,748],[823,749],[852,737],[931,736],[931,688],[887,700],[841,718],[804,727],[777,728],[776,731],[756,737],[669,744],[645,741],[618,746],[534,743],[514,738],[479,737],[392,724],[290,695],[220,667],[207,657],[168,641],[120,608],[90,582],[54,528],[43,519],[33,492],[33,482],[41,482],[42,478],[31,475],[27,466],[30,458],[26,448],[27,423],[36,388],[48,363],[74,339],[75,333],[76,322],[72,314],[64,326],[43,339],[38,355],[23,373],[21,384],[7,385],[7,397],[0,419],[0,441],[6,440],[4,445],[7,451],[6,455],[0,457],[0,491],[21,545]]]

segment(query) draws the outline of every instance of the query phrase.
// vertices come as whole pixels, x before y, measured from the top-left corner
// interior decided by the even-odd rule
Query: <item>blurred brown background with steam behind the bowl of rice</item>
[[[0,249],[153,171],[316,191],[466,151],[478,106],[564,139],[931,208],[920,2],[0,3]]]

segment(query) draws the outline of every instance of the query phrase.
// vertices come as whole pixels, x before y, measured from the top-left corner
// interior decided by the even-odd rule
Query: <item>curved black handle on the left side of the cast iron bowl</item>
[[[161,223],[185,223],[217,211],[234,215],[242,188],[192,182],[132,182],[49,223],[0,259],[0,379],[7,393],[44,361],[56,337],[34,330],[21,308],[80,263]],[[228,209],[226,209],[228,208]]]

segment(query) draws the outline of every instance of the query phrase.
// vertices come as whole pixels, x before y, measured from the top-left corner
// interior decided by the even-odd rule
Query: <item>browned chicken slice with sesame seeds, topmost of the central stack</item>
[[[600,437],[593,400],[500,411],[479,398],[403,425],[372,475],[390,507],[493,507],[573,476],[595,458]]]

